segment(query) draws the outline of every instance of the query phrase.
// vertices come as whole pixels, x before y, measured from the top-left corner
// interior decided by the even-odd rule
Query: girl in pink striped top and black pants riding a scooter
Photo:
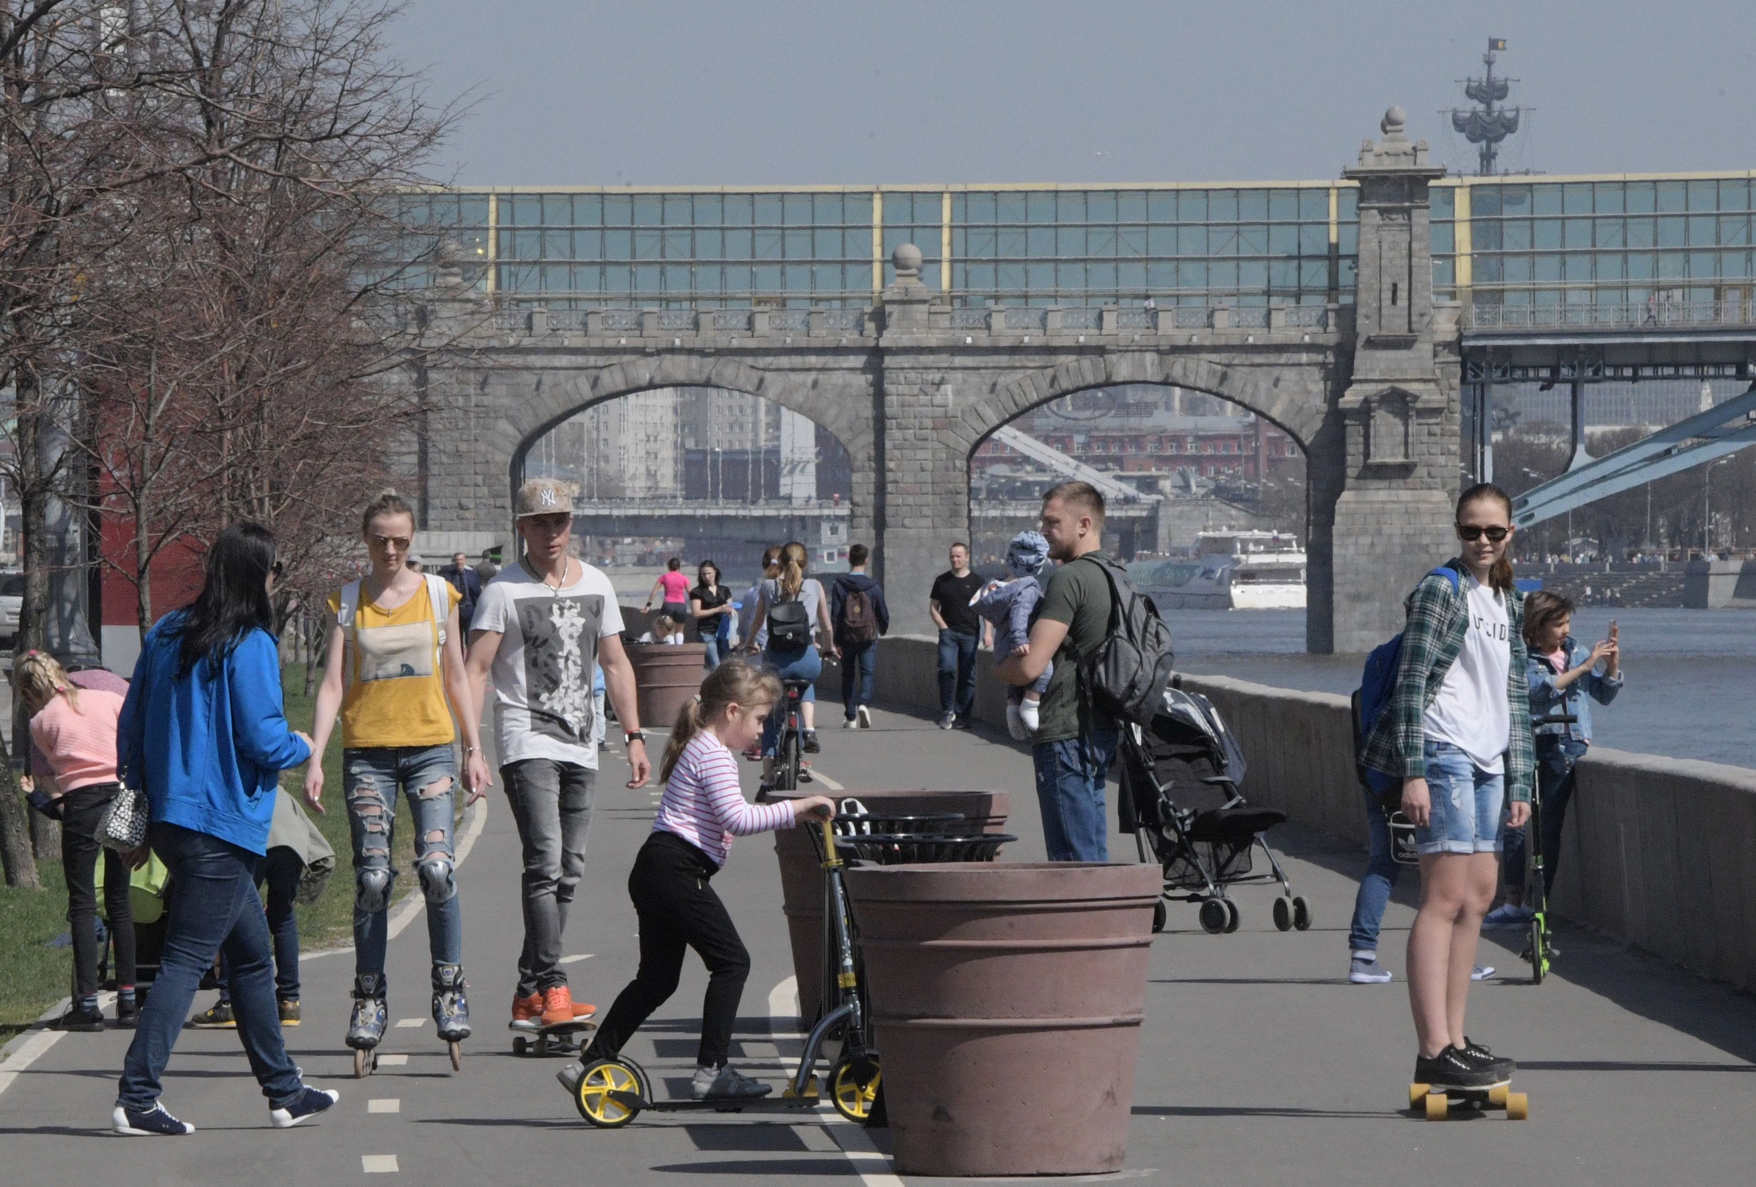
[[[676,715],[658,767],[664,780],[658,817],[629,874],[629,897],[641,920],[641,968],[616,996],[579,1062],[558,1073],[569,1092],[578,1090],[587,1066],[615,1059],[651,1011],[676,992],[683,950],[694,948],[708,966],[708,997],[690,1096],[697,1101],[767,1096],[769,1085],[748,1080],[725,1062],[738,999],[750,976],[750,953],[708,880],[720,873],[734,836],[790,829],[810,811],[829,817],[836,811],[824,795],[752,804],[738,787],[732,755],[762,732],[762,718],[780,694],[774,673],[720,664],[701,681],[701,695]]]

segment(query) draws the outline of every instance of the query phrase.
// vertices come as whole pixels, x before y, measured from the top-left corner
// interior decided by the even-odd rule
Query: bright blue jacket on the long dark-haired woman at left
[[[153,820],[267,853],[281,771],[311,757],[281,709],[274,636],[253,629],[220,673],[207,660],[177,680],[177,623],[165,615],[140,644],[116,723],[116,773],[144,788]]]

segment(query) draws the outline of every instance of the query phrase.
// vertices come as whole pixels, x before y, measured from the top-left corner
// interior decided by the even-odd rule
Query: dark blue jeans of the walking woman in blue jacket
[[[276,1108],[304,1087],[281,1041],[274,1004],[274,945],[256,897],[256,853],[205,832],[155,820],[148,839],[170,871],[170,901],[158,978],[140,1008],[140,1022],[123,1061],[116,1103],[144,1111],[163,1087],[160,1076],[202,973],[221,952],[232,976],[232,1013],[249,1069]]]

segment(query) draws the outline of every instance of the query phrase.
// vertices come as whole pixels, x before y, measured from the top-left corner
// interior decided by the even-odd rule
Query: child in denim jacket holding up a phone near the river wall
[[[1526,683],[1536,732],[1536,802],[1542,806],[1538,841],[1544,894],[1554,890],[1554,876],[1561,869],[1561,825],[1566,824],[1566,806],[1573,799],[1573,766],[1591,746],[1591,702],[1608,704],[1623,690],[1616,620],[1610,620],[1608,637],[1593,648],[1568,634],[1572,625],[1573,602],[1559,594],[1536,590],[1524,599],[1524,644],[1529,651]],[[1601,673],[1598,664],[1603,664]],[[1482,927],[1522,927],[1535,913],[1524,906],[1526,831],[1507,831],[1501,862],[1507,901],[1487,913]]]

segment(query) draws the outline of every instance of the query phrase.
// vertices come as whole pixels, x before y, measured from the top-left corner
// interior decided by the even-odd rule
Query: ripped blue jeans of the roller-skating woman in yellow
[[[342,750],[341,780],[353,831],[353,971],[385,971],[390,941],[390,864],[397,788],[414,818],[414,873],[427,896],[427,943],[434,964],[462,964],[464,908],[457,901],[451,845],[457,757],[451,745]]]

